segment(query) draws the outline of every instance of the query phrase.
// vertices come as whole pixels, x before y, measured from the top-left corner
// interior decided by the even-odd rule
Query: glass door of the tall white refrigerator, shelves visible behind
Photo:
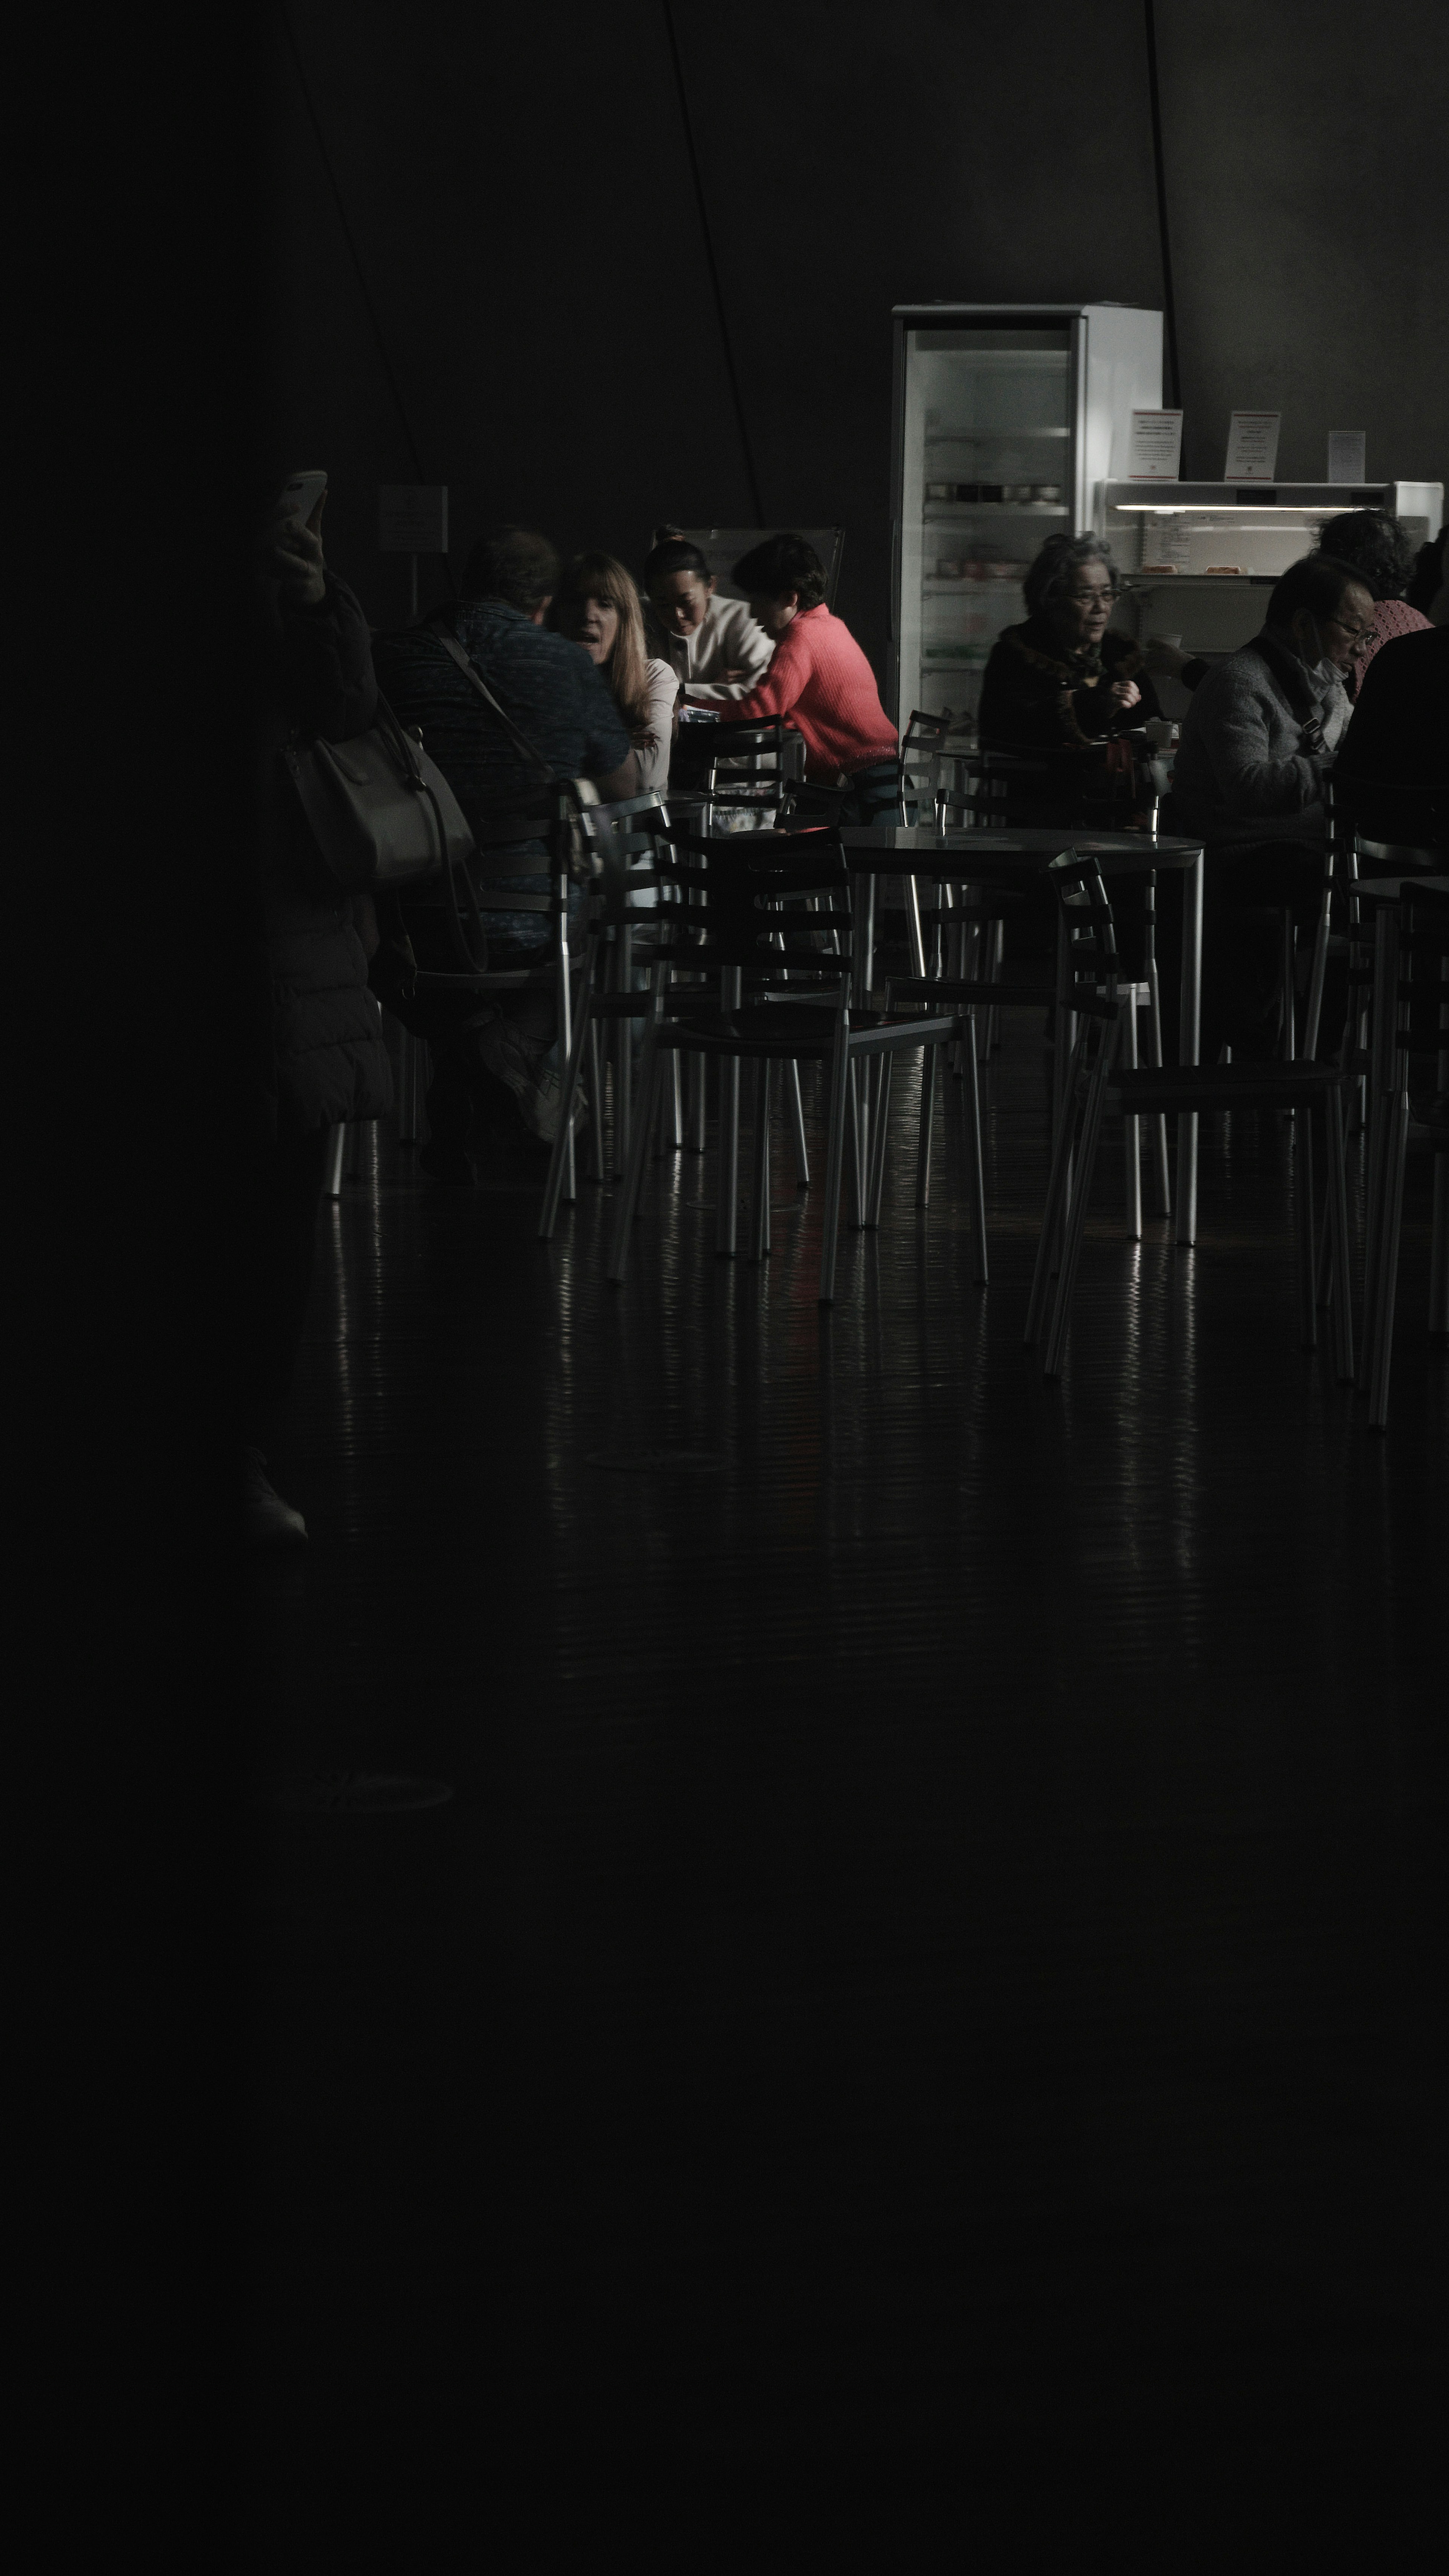
[[[913,708],[975,734],[1021,577],[1073,526],[1073,325],[905,330],[900,492],[900,729]]]

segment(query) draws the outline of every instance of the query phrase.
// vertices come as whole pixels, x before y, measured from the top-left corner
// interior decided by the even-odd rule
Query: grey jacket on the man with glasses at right
[[[1207,842],[1320,840],[1323,778],[1351,706],[1263,629],[1199,680],[1173,768],[1171,822]]]

